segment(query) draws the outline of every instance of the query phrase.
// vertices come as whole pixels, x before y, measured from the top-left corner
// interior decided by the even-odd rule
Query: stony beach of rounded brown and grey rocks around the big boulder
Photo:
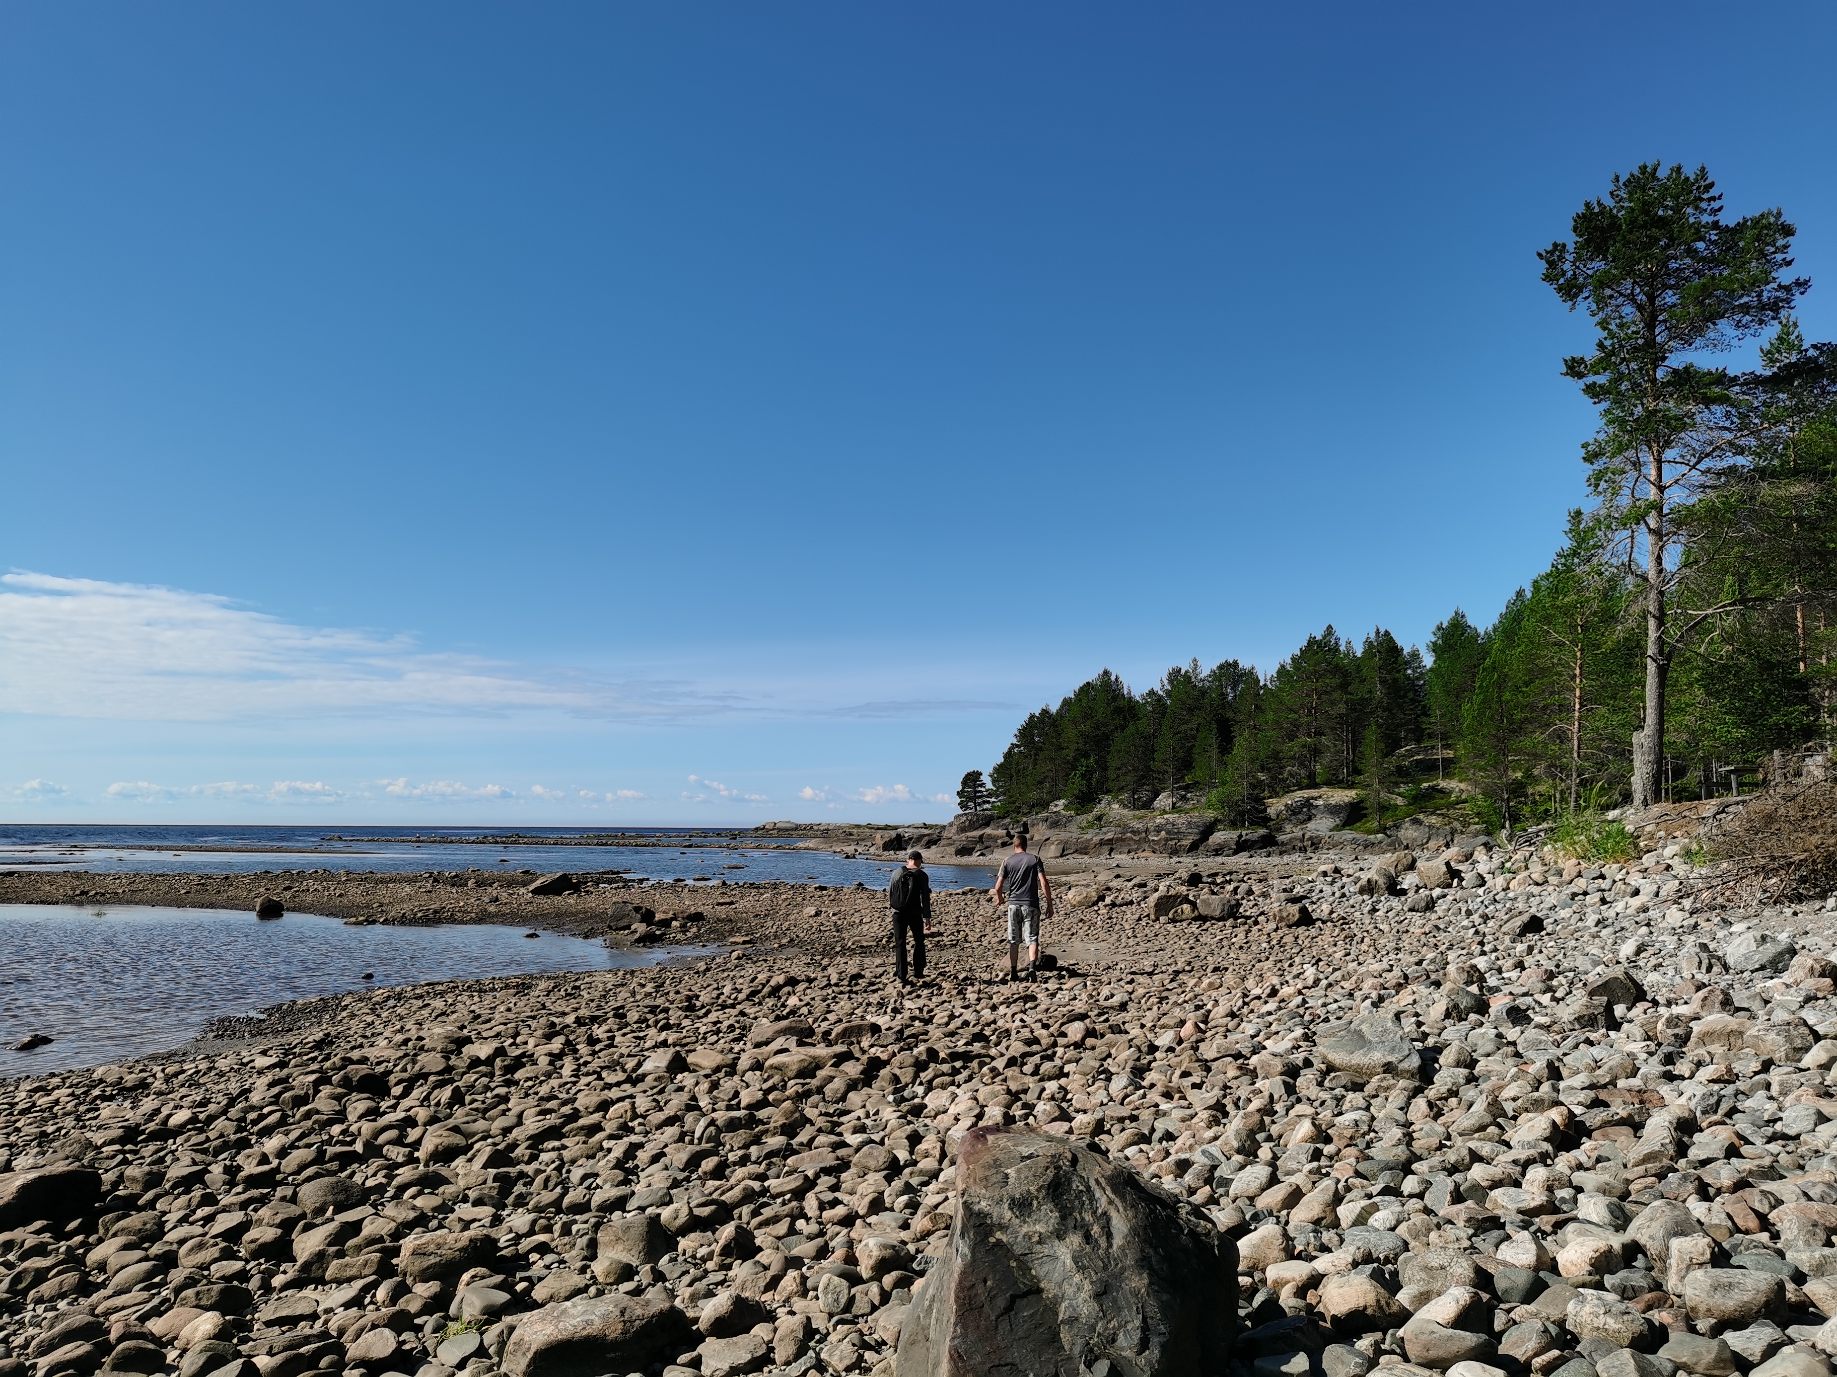
[[[0,1171],[103,1195],[0,1181],[0,1377],[533,1377],[547,1307],[612,1293],[682,1320],[650,1371],[891,1373],[986,1124],[1234,1234],[1244,1371],[1828,1373],[1833,914],[1685,856],[1106,865],[1012,986],[985,894],[900,988],[882,894],[738,885],[696,896],[722,958],[0,1085]]]

